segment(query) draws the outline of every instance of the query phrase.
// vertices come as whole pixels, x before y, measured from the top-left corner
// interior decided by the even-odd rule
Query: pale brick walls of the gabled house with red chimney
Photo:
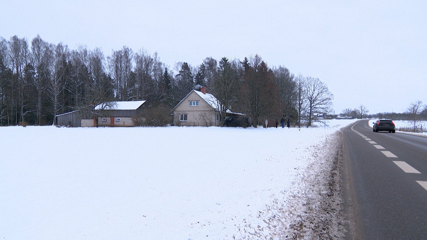
[[[190,106],[190,101],[199,101],[199,105]],[[175,126],[219,126],[216,111],[194,91],[176,106],[173,113]],[[181,121],[180,114],[187,114],[187,121]]]

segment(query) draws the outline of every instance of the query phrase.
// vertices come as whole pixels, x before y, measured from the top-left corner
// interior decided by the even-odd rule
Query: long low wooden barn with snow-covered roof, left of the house
[[[130,127],[135,126],[135,117],[142,111],[145,101],[104,102],[95,106],[92,113],[76,110],[56,115],[56,126],[69,127]]]

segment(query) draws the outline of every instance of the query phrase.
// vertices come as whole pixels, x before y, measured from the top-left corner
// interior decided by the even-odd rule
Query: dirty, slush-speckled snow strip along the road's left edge
[[[292,186],[261,211],[258,222],[239,226],[237,239],[342,239],[341,135],[328,135],[313,146],[304,171]]]

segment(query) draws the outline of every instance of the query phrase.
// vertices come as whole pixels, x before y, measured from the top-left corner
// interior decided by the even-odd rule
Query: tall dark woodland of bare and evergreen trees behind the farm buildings
[[[205,86],[226,110],[247,114],[253,126],[265,119],[290,118],[311,126],[317,113],[332,111],[333,94],[311,76],[295,76],[261,56],[243,61],[207,57],[193,67],[172,68],[157,53],[123,46],[104,56],[101,49],[51,44],[39,35],[31,41],[0,37],[0,125],[50,125],[58,114],[89,109],[102,102],[146,100],[153,115],[170,116],[172,108],[192,89]],[[158,111],[157,111],[158,112]],[[158,122],[158,121],[157,121]]]

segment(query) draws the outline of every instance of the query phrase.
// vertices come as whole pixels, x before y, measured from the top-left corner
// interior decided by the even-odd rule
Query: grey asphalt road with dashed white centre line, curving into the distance
[[[427,138],[342,129],[348,239],[427,240]]]

